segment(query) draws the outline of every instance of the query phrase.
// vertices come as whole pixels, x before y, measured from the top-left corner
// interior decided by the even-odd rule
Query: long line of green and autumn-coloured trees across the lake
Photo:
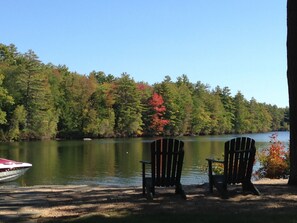
[[[44,64],[0,44],[0,140],[201,135],[288,130],[288,108],[250,101],[228,87],[135,82]]]

